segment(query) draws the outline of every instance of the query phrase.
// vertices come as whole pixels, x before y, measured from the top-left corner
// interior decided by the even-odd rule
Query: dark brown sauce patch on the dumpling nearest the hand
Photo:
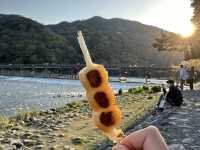
[[[100,121],[103,125],[109,127],[115,124],[115,120],[112,115],[112,111],[110,112],[102,112],[100,115]]]

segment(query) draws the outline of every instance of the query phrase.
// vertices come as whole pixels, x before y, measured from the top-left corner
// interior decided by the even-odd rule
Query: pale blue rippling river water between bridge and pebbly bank
[[[117,78],[112,77],[112,81]],[[127,90],[144,84],[144,79],[129,78],[132,83],[110,82],[114,90]],[[152,80],[162,83],[163,80]],[[0,76],[0,115],[12,116],[21,111],[46,110],[63,106],[85,93],[79,80]]]

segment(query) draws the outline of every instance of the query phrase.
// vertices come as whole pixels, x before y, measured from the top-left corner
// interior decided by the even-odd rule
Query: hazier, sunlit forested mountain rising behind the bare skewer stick
[[[180,60],[176,57],[180,56],[178,54],[163,54],[154,49],[152,42],[161,30],[139,22],[93,17],[48,27],[70,41],[76,51],[79,51],[76,32],[82,30],[92,58],[97,63],[165,66]]]

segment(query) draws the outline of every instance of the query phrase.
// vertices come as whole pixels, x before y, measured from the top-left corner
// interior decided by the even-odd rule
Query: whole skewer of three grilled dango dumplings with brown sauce
[[[106,69],[92,63],[82,32],[78,32],[78,42],[83,52],[86,67],[79,72],[79,78],[86,90],[94,124],[113,141],[123,137],[121,129],[121,111],[116,105],[114,92],[108,82]]]

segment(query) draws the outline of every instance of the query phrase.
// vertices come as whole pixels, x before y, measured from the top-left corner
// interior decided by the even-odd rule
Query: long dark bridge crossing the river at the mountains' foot
[[[9,64],[0,65],[0,75],[15,76],[41,76],[41,77],[65,77],[77,75],[84,65],[65,64]],[[105,66],[110,76],[127,75],[132,77],[170,77],[176,69],[164,67],[136,67],[131,65]]]

